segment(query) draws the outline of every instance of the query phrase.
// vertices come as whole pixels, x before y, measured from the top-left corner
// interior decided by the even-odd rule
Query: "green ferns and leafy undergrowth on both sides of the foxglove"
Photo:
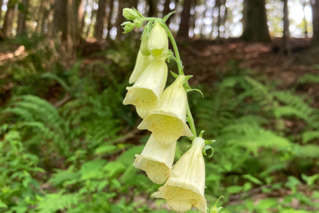
[[[138,118],[122,105],[134,61],[121,57],[134,58],[133,48],[65,66],[53,47],[38,45],[0,65],[1,85],[11,85],[1,88],[0,211],[167,212],[149,198],[158,186],[132,165],[148,137],[131,133]],[[226,213],[318,212],[319,110],[311,97],[230,65],[197,85],[204,99],[190,96],[198,129],[217,141],[205,158],[209,207],[224,195]],[[181,139],[175,160],[186,149]]]

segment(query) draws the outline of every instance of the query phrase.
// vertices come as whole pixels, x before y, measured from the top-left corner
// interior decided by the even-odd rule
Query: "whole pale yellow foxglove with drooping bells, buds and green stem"
[[[133,21],[122,24],[124,33],[145,24],[136,65],[129,80],[130,84],[134,84],[127,87],[128,92],[123,104],[135,105],[138,115],[143,118],[137,128],[152,132],[142,153],[135,155],[133,165],[145,171],[149,179],[156,184],[166,181],[152,196],[166,199],[174,211],[182,213],[196,207],[206,213],[203,155],[206,155],[207,149],[212,149],[213,154],[213,148],[209,144],[214,140],[204,140],[204,131],[197,137],[187,93],[202,92],[189,87],[188,80],[192,76],[184,75],[176,42],[165,24],[173,13],[163,19],[146,18],[134,8],[123,9],[123,16]],[[168,38],[174,52],[168,49]],[[171,60],[177,63],[178,74],[171,72],[175,81],[164,90],[167,80],[166,62]],[[192,145],[172,166],[176,141],[181,136],[189,137]],[[220,209],[221,207],[217,208],[215,204],[211,212],[218,213]]]

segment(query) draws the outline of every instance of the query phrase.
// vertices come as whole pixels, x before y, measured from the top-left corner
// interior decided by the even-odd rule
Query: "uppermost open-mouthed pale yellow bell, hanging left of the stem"
[[[156,58],[142,72],[132,87],[128,90],[123,104],[133,104],[137,114],[145,118],[149,111],[155,109],[167,80],[167,65],[165,58]]]

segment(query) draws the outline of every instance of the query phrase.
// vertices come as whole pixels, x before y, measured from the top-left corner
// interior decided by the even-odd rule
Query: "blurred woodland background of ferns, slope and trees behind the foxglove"
[[[195,124],[216,140],[204,158],[208,207],[224,195],[225,213],[318,212],[318,3],[267,0],[252,33],[242,11],[260,7],[245,2],[0,0],[0,212],[170,212],[132,165],[150,134],[122,105],[141,35],[116,36],[124,6],[176,11],[185,74],[204,94],[188,95]],[[269,40],[256,37],[265,27]]]

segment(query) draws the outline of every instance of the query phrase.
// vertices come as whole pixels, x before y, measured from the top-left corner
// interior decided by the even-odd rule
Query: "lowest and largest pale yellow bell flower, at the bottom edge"
[[[165,185],[152,194],[153,197],[166,199],[168,206],[177,213],[188,211],[193,206],[206,213],[204,146],[204,139],[196,137],[192,147],[173,167],[178,177],[169,177]]]

